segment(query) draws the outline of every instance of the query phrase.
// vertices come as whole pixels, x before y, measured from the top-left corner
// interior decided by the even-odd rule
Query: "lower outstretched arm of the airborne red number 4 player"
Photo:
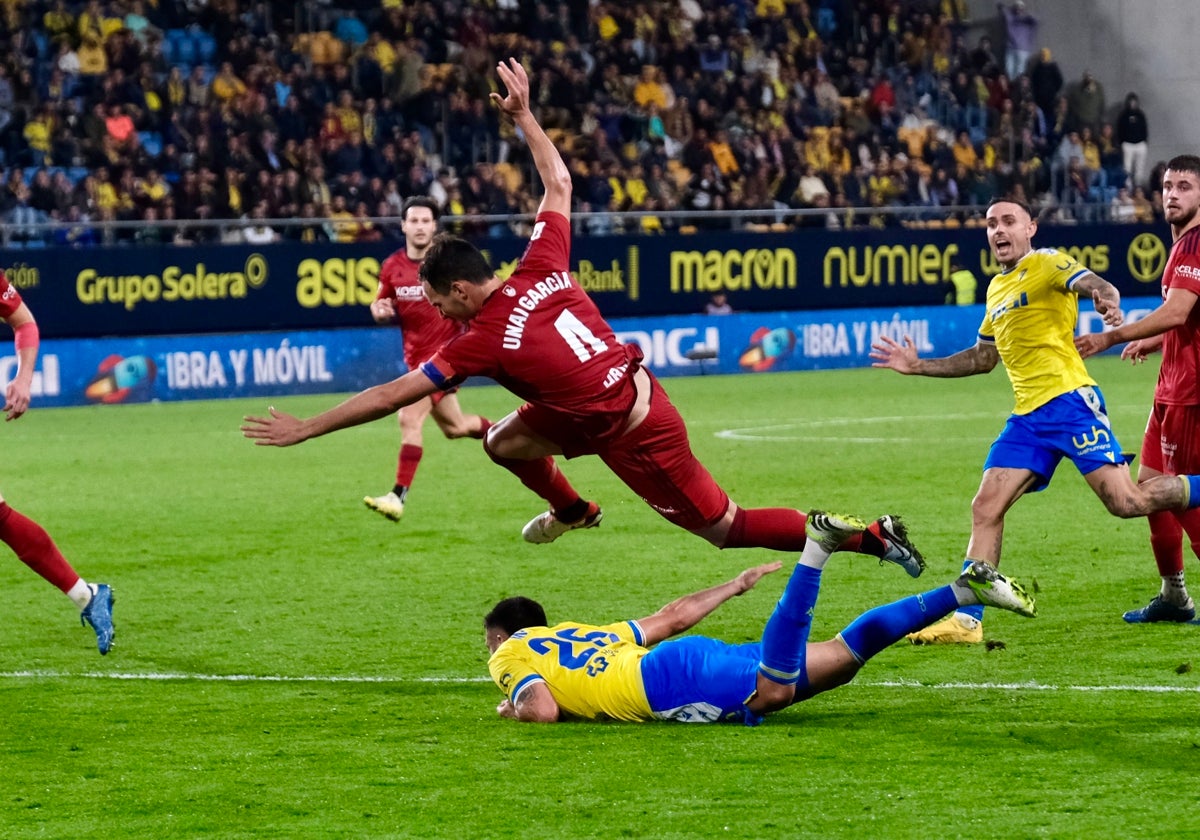
[[[437,386],[427,376],[414,370],[398,379],[360,391],[340,406],[307,420],[277,412],[272,407],[270,416],[244,418],[241,433],[258,446],[292,446],[340,428],[388,416],[436,390]]]

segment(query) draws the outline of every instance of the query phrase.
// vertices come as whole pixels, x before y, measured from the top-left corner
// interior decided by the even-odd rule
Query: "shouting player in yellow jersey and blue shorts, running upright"
[[[1070,458],[1114,516],[1200,505],[1200,476],[1159,476],[1135,484],[1109,422],[1104,397],[1075,349],[1079,298],[1091,298],[1109,326],[1122,322],[1121,295],[1106,280],[1052,248],[1033,250],[1038,223],[1019,200],[988,206],[988,245],[1002,271],[988,286],[986,312],[973,347],[920,359],[913,341],[882,337],[871,346],[875,367],[928,377],[988,373],[1004,364],[1016,407],[988,452],[971,503],[966,565],[1000,564],[1004,514],[1027,492],[1050,484]],[[983,608],[956,611],[913,634],[922,643],[983,641]]]

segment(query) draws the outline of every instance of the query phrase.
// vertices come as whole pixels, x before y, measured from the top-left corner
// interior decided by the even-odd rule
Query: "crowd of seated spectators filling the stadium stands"
[[[532,168],[487,100],[509,55],[589,234],[726,227],[730,210],[776,228],[974,223],[1001,192],[1063,221],[1162,217],[1157,173],[1124,168],[1122,145],[1145,140],[1136,97],[1108,121],[1099,82],[1068,84],[1044,48],[1010,78],[966,0],[0,8],[10,246],[390,239],[379,220],[415,194],[464,235],[520,233]]]

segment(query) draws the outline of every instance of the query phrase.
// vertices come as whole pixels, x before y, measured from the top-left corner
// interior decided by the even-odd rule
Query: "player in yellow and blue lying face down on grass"
[[[848,683],[880,650],[960,606],[990,604],[1036,614],[1033,599],[1018,583],[978,563],[950,584],[875,607],[835,638],[809,643],[821,571],[829,554],[864,528],[853,517],[809,515],[799,563],[762,641],[749,644],[707,636],[665,640],[752,588],[779,563],[746,569],[647,618],[600,626],[547,626],[546,611],[536,601],[508,598],[484,618],[492,654],[487,667],[505,696],[497,712],[542,724],[582,719],[754,726],[769,712]]]

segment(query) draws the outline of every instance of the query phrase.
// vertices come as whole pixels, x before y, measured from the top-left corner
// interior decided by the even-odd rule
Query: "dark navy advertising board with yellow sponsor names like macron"
[[[1056,245],[1123,295],[1156,294],[1165,230],[1045,227]],[[500,274],[526,240],[488,239]],[[370,324],[379,265],[392,246],[158,246],[0,252],[0,268],[49,337],[306,330]],[[714,292],[740,311],[941,304],[954,263],[983,294],[996,265],[978,228],[577,236],[580,283],[608,318],[698,312]]]

